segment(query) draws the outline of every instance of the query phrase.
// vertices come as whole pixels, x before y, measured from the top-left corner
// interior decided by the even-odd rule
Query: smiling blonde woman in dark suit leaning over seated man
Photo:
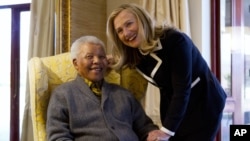
[[[226,94],[192,40],[172,26],[155,26],[135,4],[107,21],[114,68],[136,68],[160,89],[161,130],[170,141],[213,141]]]

